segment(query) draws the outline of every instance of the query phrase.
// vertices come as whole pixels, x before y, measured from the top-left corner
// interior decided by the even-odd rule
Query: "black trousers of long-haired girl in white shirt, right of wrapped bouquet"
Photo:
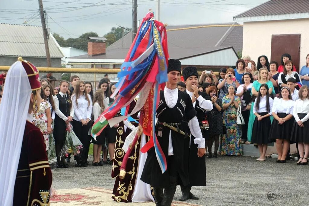
[[[73,119],[72,126],[73,126],[73,131],[74,131],[75,135],[78,137],[78,139],[83,144],[83,151],[82,151],[81,155],[79,157],[76,156],[75,159],[77,161],[87,161],[88,152],[89,152],[89,145],[90,145],[90,141],[89,141],[89,137],[88,137],[88,131],[89,131],[89,128],[90,128],[90,123],[88,122],[87,125],[83,125],[82,122],[79,122],[79,121],[76,121],[76,120]]]

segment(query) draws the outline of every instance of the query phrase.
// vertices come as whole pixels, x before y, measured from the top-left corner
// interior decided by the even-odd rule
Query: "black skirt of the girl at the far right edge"
[[[307,114],[298,113],[299,119],[302,119]],[[291,141],[293,142],[304,142],[309,143],[309,121],[303,122],[304,127],[299,127],[297,122],[294,120]]]

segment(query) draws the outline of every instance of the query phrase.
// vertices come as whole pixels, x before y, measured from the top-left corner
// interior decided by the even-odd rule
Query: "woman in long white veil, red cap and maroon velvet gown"
[[[0,104],[0,206],[13,205],[13,200],[22,205],[46,203],[52,178],[42,133],[27,121],[40,99],[39,72],[30,62],[18,60],[8,70]]]

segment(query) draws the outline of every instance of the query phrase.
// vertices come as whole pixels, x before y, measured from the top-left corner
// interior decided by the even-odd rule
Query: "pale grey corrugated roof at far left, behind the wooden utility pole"
[[[63,56],[53,38],[48,45],[50,57]],[[0,23],[0,55],[46,57],[42,27]]]

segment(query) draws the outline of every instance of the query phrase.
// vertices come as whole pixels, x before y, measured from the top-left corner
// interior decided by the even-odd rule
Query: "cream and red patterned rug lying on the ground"
[[[50,200],[51,206],[73,206],[73,205],[136,205],[154,206],[154,202],[142,203],[116,203],[112,199],[112,190],[101,187],[88,187],[81,189],[56,190],[56,195]],[[172,206],[198,206],[186,202],[173,201]]]

